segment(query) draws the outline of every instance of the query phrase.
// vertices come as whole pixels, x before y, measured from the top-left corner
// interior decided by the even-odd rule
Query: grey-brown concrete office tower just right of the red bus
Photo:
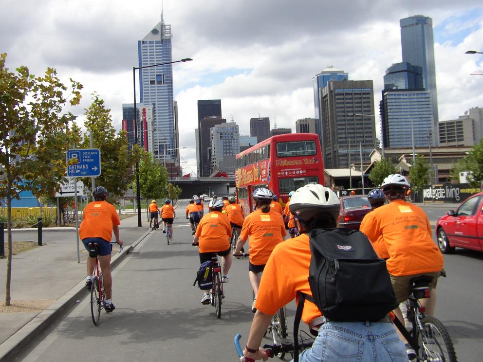
[[[326,168],[363,162],[376,145],[372,80],[329,81],[321,92],[322,153]],[[367,114],[367,116],[364,116]]]

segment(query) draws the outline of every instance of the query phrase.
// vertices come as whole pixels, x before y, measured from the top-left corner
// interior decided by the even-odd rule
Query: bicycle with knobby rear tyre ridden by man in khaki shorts
[[[445,273],[442,273],[446,276]],[[446,327],[435,317],[424,314],[418,300],[429,298],[431,277],[411,280],[412,290],[407,301],[407,317],[412,329],[409,333],[416,348],[416,359],[422,362],[456,362],[456,352]],[[404,326],[404,323],[403,323]]]

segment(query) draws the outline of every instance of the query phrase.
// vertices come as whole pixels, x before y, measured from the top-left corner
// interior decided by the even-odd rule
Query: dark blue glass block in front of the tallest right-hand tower
[[[423,89],[423,69],[409,63],[392,64],[384,76],[384,89]]]

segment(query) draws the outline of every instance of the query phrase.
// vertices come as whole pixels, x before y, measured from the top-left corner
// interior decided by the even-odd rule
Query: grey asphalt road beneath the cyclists
[[[430,219],[446,213],[441,207],[424,208]],[[233,261],[222,318],[217,319],[213,307],[200,304],[202,293],[192,286],[199,259],[189,226],[180,217],[175,225],[172,245],[161,231],[151,232],[115,269],[116,310],[103,312],[99,326],[93,326],[85,298],[19,360],[237,361],[233,338],[240,332],[241,343],[246,342],[253,317],[248,261]],[[448,328],[459,361],[481,361],[483,253],[457,249],[445,255],[445,270],[436,317]],[[287,307],[289,330],[294,307],[293,302]]]

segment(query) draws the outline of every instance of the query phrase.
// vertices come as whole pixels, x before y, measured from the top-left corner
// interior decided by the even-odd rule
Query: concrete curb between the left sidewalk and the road
[[[149,233],[150,231],[139,237],[123,253],[114,255],[111,260],[111,270],[123,261]],[[77,304],[76,301],[83,298],[87,292],[85,281],[81,280],[75,287],[57,299],[52,306],[42,311],[29,323],[15,332],[15,334],[5,340],[5,342],[0,344],[0,362],[11,362],[18,358],[42,333],[74,307]]]

